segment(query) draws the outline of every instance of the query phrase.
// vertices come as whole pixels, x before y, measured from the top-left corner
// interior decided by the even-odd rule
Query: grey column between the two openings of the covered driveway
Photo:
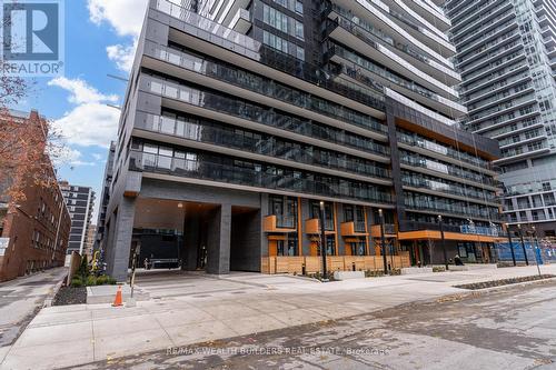
[[[207,272],[230,272],[231,204],[221,204],[209,216],[207,236]]]

